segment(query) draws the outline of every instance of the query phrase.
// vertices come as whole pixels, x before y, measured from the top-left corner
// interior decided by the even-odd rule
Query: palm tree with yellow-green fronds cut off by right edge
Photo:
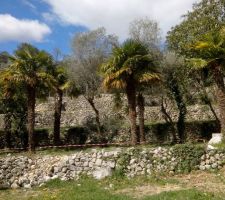
[[[196,55],[191,59],[194,68],[208,67],[217,86],[217,100],[220,111],[220,124],[223,137],[225,136],[225,28],[208,32],[191,46]]]

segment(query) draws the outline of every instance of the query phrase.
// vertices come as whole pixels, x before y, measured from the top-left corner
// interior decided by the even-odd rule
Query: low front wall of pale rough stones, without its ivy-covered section
[[[221,169],[225,153],[207,151],[200,159],[200,170]],[[180,162],[173,148],[115,148],[106,151],[93,149],[60,156],[11,156],[0,159],[0,185],[11,188],[31,188],[59,178],[78,179],[86,174],[97,179],[110,176],[113,170],[122,170],[128,177],[151,175],[152,173],[176,173]]]

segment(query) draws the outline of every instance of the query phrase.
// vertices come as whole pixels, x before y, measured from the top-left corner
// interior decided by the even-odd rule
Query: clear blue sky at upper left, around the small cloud
[[[30,4],[29,4],[30,3]],[[45,49],[53,53],[55,48],[59,48],[63,54],[71,51],[70,41],[76,32],[87,30],[84,26],[66,25],[44,19],[41,13],[47,13],[50,6],[41,0],[1,0],[0,14],[10,14],[17,19],[38,20],[49,26],[51,33],[47,34],[41,42],[28,40],[40,49]],[[1,32],[1,31],[0,31]],[[23,41],[0,41],[0,51],[13,53],[19,43]],[[26,40],[24,42],[27,42]]]

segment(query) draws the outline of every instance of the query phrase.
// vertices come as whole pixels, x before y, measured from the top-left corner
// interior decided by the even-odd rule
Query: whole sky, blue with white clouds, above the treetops
[[[71,52],[71,38],[104,26],[108,33],[128,37],[137,18],[156,20],[162,36],[181,20],[195,0],[0,0],[0,51],[12,53],[30,42],[50,53]]]

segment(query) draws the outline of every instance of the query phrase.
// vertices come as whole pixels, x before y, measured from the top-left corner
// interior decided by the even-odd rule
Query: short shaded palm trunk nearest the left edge
[[[4,115],[4,132],[5,132],[5,147],[11,148],[11,127],[12,127],[12,115],[6,113]]]

